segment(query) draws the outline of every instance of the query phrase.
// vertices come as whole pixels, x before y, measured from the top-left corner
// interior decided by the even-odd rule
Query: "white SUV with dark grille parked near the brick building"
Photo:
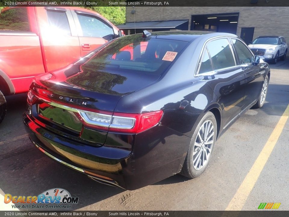
[[[285,60],[288,46],[282,36],[259,36],[248,45],[255,55],[262,56],[265,61],[272,60],[276,64],[278,58]]]

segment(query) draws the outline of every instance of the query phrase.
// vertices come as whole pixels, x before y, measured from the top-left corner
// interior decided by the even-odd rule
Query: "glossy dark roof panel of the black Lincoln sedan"
[[[140,33],[141,34],[141,33]],[[216,33],[216,32],[208,32],[208,31],[159,31],[159,32],[151,32],[151,38],[157,39],[171,39],[171,40],[179,40],[190,42],[198,37],[212,38],[215,36],[233,36],[237,37],[231,33]]]

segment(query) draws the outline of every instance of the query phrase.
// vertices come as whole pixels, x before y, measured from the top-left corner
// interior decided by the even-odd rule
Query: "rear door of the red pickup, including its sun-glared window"
[[[80,58],[79,39],[69,9],[35,7],[46,71],[64,68]]]

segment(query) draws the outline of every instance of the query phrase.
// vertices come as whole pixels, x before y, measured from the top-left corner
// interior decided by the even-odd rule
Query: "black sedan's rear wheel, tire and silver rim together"
[[[216,137],[216,118],[212,112],[207,112],[191,138],[181,175],[197,178],[204,172],[210,162]]]

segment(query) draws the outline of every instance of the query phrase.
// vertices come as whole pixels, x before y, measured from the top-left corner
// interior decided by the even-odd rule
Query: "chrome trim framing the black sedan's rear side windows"
[[[236,62],[235,53],[233,51],[233,47],[232,47],[233,45],[231,44],[230,37],[233,37],[233,36],[215,36],[215,37],[212,37],[210,39],[207,39],[204,42],[204,45],[203,45],[202,50],[201,50],[201,55],[199,56],[199,59],[198,59],[197,68],[195,69],[195,72],[194,72],[194,77],[210,76],[210,75],[214,75],[214,74],[218,73],[219,71],[227,70],[227,69],[230,69],[230,68],[236,68],[236,67],[239,66],[239,65],[237,65],[237,62]],[[234,61],[235,61],[235,66],[230,66],[230,67],[226,67],[226,68],[221,68],[221,69],[215,70],[213,62],[212,62],[212,58],[211,58],[211,55],[210,55],[210,52],[207,49],[207,44],[210,43],[211,41],[215,41],[215,40],[218,40],[218,39],[227,39],[228,40],[228,43],[229,43],[229,46],[230,46],[230,49],[231,49],[231,52],[232,52],[232,55],[233,55],[233,58],[234,58]],[[208,54],[210,56],[210,61],[211,61],[211,64],[212,64],[213,71],[204,72],[204,73],[200,73],[199,74],[201,61],[202,61],[203,55],[204,55],[204,49],[207,49],[207,52],[208,52]]]

